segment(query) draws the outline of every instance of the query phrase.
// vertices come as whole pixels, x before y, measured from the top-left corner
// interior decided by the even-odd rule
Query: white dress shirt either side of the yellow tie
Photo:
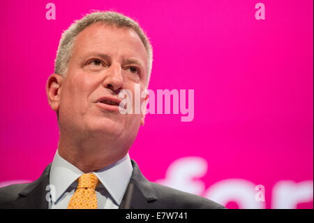
[[[96,187],[98,209],[117,209],[123,199],[133,172],[128,154],[116,163],[92,172],[100,180]],[[50,209],[66,209],[77,188],[77,179],[84,174],[66,159],[58,150],[50,169]]]

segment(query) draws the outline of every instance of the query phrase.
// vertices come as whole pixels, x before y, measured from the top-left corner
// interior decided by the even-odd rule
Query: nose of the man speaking
[[[111,64],[107,69],[105,79],[103,80],[103,87],[111,89],[114,94],[119,94],[124,87],[124,77],[121,73],[120,64]]]

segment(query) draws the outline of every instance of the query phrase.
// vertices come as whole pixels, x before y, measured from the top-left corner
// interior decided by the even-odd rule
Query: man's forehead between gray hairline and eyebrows
[[[147,66],[147,51],[140,36],[128,27],[116,27],[96,22],[77,35],[73,56],[105,53],[111,57],[136,57]]]

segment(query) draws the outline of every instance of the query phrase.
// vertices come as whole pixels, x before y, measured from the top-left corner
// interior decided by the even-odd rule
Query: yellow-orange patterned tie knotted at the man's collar
[[[78,179],[77,189],[68,203],[68,209],[97,209],[96,187],[100,181],[94,173],[85,173]]]

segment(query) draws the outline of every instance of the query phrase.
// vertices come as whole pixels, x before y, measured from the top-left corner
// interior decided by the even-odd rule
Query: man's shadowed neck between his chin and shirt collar
[[[121,148],[117,141],[115,143],[82,142],[60,136],[58,153],[80,171],[91,173],[119,161],[126,156],[128,149]]]

